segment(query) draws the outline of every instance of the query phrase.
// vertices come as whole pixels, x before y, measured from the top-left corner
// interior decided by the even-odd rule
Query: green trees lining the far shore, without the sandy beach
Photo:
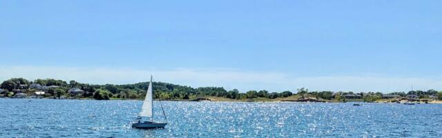
[[[291,97],[295,95],[290,91],[269,92],[267,90],[249,90],[240,92],[236,89],[225,90],[222,87],[200,87],[191,88],[189,86],[180,86],[171,83],[154,82],[153,97],[155,99],[196,99],[199,97],[224,97],[228,99],[254,99],[267,98],[277,99]],[[44,91],[45,97],[73,97],[88,99],[143,99],[146,95],[148,82],[124,84],[124,85],[95,85],[89,83],[79,83],[77,81],[62,81],[57,79],[35,79],[28,81],[23,78],[12,78],[3,81],[0,86],[0,95],[3,97],[12,97],[19,92],[32,95],[37,91]],[[334,101],[346,101],[349,95],[360,95],[363,101],[376,101],[382,99],[381,92],[332,92],[332,91],[313,91],[306,88],[297,90],[296,95],[300,99],[316,98]],[[391,92],[389,95],[417,95],[418,98],[425,99],[430,96],[442,100],[442,92],[436,90],[415,90],[410,92]]]

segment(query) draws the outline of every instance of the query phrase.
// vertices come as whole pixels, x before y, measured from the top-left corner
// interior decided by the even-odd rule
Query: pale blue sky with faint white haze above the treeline
[[[442,1],[0,3],[0,80],[442,90]]]

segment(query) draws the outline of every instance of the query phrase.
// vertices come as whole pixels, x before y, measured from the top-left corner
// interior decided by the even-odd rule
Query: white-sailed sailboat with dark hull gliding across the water
[[[167,125],[167,123],[158,123],[153,121],[153,83],[152,83],[152,76],[151,76],[151,82],[149,82],[149,86],[146,92],[146,98],[143,101],[143,106],[141,108],[141,112],[138,115],[137,119],[135,119],[135,122],[133,122],[132,127],[133,128],[142,128],[142,129],[151,129],[151,128],[164,128],[164,126]],[[167,121],[166,114],[164,113],[164,109],[161,106],[164,119]]]

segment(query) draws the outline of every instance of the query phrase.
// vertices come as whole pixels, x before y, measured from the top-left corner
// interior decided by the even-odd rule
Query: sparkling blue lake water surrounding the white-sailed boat
[[[164,121],[155,101],[155,120]],[[142,101],[0,99],[1,137],[442,137],[442,105],[162,101],[164,129],[131,128]]]

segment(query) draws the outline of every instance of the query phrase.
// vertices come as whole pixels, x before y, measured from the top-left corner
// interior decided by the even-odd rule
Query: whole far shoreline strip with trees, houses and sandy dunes
[[[299,88],[296,93],[289,90],[269,92],[267,90],[225,90],[222,87],[191,88],[172,83],[154,82],[154,99],[169,101],[293,101],[293,102],[382,102],[404,103],[441,103],[442,92],[437,90],[411,90],[409,92],[332,92],[309,91]],[[63,81],[58,79],[11,78],[0,86],[0,97],[3,98],[36,98],[36,99],[144,99],[148,83],[140,82],[122,85],[96,85]]]

